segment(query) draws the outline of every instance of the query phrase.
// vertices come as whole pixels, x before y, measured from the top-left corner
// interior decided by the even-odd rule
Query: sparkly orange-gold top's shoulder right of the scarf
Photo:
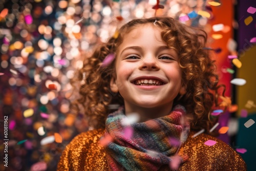
[[[194,169],[201,170],[246,170],[246,164],[242,157],[228,144],[206,134],[200,134],[193,138],[194,134],[195,132],[189,134],[180,150],[189,157],[189,161],[184,163],[187,167],[193,166]],[[215,141],[216,144],[205,145],[204,143],[208,140]]]

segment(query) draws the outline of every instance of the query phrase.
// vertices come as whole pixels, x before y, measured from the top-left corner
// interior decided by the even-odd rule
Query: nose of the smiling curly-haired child
[[[141,64],[139,67],[140,70],[159,70],[160,67],[157,63],[157,59],[155,56],[147,56],[141,60]]]

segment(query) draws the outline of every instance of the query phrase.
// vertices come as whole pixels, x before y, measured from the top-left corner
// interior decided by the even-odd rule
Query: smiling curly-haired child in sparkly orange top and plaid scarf
[[[206,33],[169,17],[134,19],[118,33],[72,81],[84,81],[73,109],[82,105],[95,130],[66,146],[58,170],[246,170],[240,155],[210,136],[221,86]]]

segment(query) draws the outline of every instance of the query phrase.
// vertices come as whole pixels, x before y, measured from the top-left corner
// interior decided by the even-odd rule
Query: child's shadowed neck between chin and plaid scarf
[[[139,122],[145,122],[147,120],[169,115],[170,111],[172,111],[173,103],[157,106],[155,108],[146,108],[137,105],[125,104],[124,102],[124,106],[126,116],[130,115],[131,113],[136,113],[139,115]]]

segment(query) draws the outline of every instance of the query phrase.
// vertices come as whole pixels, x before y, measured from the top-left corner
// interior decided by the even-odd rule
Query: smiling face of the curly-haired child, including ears
[[[118,47],[110,87],[123,97],[125,113],[150,109],[167,115],[178,93],[185,93],[178,54],[160,33],[151,23],[139,25]]]

